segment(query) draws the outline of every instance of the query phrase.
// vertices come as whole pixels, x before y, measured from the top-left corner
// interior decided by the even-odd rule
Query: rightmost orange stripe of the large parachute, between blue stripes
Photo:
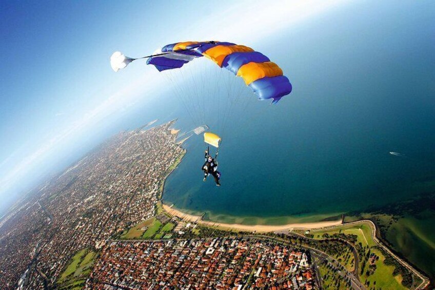
[[[250,83],[266,76],[283,75],[283,70],[272,62],[247,63],[239,68],[237,75],[241,76],[248,86]]]

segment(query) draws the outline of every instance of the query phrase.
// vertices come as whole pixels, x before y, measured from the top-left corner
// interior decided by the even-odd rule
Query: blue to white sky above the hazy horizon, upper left
[[[152,67],[114,73],[113,51],[143,56],[188,40],[254,44],[348,5],[268,3],[3,1],[0,213],[33,181],[90,149],[96,131],[161,92]]]

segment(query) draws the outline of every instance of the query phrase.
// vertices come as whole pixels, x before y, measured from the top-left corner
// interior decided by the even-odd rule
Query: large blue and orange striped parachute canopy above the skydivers
[[[276,103],[292,90],[290,81],[283,75],[283,70],[267,56],[250,47],[230,42],[168,44],[155,51],[147,64],[153,65],[159,71],[180,69],[184,64],[202,56],[243,78],[245,84],[260,100],[272,99],[272,103]],[[132,59],[129,60],[131,62]]]

